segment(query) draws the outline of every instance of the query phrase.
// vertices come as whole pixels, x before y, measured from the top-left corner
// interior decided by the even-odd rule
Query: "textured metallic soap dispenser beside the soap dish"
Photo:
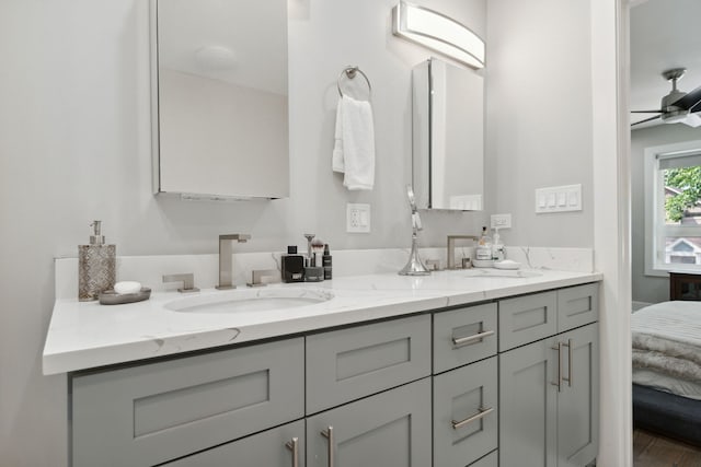
[[[93,221],[90,245],[78,245],[78,300],[97,300],[101,292],[114,288],[116,278],[116,246],[105,245],[100,233],[101,221]]]

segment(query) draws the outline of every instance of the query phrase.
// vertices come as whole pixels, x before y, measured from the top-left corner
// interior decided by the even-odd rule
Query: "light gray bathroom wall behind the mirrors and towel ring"
[[[289,199],[154,198],[146,0],[0,2],[0,464],[67,463],[67,382],[42,375],[53,258],[76,256],[103,221],[119,255],[283,250],[314,232],[334,248],[407,247],[410,70],[428,52],[391,35],[394,0],[290,0]],[[485,33],[484,0],[421,2]],[[474,19],[474,20],[473,20]],[[372,81],[377,185],[347,192],[331,174],[336,77]],[[369,202],[372,233],[345,233],[345,203]],[[487,209],[490,202],[487,201]],[[483,214],[424,215],[423,245],[478,233]],[[582,245],[586,246],[586,245]]]

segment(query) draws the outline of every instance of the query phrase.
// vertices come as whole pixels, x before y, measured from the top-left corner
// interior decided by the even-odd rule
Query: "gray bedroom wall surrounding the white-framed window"
[[[657,303],[669,300],[669,279],[645,276],[645,148],[691,140],[701,140],[701,128],[674,124],[631,131],[631,276],[634,301]]]

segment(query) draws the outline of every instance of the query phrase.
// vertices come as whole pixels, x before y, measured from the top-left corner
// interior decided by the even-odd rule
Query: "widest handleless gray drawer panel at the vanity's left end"
[[[303,417],[303,339],[72,378],[74,467],[154,465]]]

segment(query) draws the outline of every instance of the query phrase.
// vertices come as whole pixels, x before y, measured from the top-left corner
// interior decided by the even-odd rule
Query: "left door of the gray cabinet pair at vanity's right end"
[[[499,355],[499,466],[554,467],[558,462],[558,351],[554,338]],[[555,347],[556,348],[556,347]]]

